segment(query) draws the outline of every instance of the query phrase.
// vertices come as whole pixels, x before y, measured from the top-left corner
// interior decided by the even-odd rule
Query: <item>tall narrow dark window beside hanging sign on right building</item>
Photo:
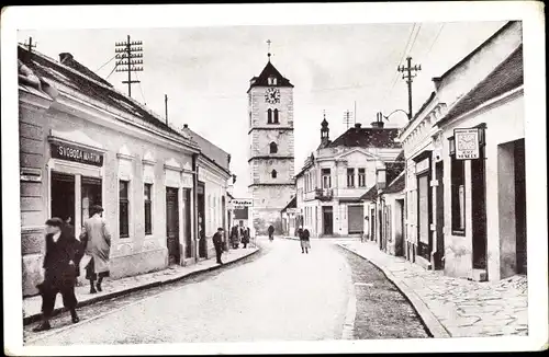
[[[456,159],[453,138],[450,138],[451,156],[451,229],[457,233],[464,233],[466,229],[466,174],[464,160]]]

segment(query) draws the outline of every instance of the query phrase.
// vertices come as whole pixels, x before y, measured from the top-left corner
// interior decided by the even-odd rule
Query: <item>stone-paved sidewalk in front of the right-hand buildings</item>
[[[434,337],[528,335],[526,276],[478,283],[425,270],[372,242],[337,243],[377,265],[408,298]]]

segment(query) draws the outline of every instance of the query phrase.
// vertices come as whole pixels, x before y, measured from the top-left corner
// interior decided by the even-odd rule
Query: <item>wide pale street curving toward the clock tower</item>
[[[27,345],[427,337],[383,274],[333,242],[310,254],[295,241],[260,244],[233,267],[82,308],[77,325],[66,313],[42,335],[29,325]],[[355,334],[343,337],[347,321]]]

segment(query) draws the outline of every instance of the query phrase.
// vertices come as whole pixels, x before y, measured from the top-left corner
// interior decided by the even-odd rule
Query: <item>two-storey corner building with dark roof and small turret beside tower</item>
[[[324,117],[321,145],[295,176],[298,209],[313,235],[365,233],[362,196],[376,185],[378,172],[385,178],[385,172],[391,176],[402,166],[397,137],[399,129],[373,122],[367,128],[356,124],[330,140]]]

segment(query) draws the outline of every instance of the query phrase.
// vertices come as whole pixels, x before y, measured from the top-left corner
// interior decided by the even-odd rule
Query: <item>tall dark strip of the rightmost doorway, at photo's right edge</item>
[[[516,267],[518,274],[527,274],[526,250],[526,168],[524,139],[515,141],[515,219]]]

